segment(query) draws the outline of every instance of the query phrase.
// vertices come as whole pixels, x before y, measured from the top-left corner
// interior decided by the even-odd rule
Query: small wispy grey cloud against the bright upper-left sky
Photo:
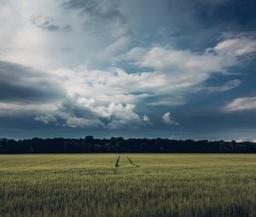
[[[45,31],[72,31],[72,26],[55,25],[55,20],[52,17],[37,16],[32,18],[32,24]]]

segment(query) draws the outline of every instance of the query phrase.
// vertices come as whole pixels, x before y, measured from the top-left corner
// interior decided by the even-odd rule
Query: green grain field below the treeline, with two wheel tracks
[[[0,216],[256,216],[256,155],[125,156],[0,155]]]

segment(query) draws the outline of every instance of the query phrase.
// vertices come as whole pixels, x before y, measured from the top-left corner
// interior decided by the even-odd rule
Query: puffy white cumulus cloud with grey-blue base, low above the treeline
[[[100,102],[79,95],[69,96],[57,110],[38,115],[35,119],[43,123],[55,123],[72,128],[137,128],[148,121],[139,117],[135,106]],[[149,118],[148,118],[149,120]]]

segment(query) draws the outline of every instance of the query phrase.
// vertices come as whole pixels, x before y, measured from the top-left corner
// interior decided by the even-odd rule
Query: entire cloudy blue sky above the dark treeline
[[[0,3],[0,137],[256,141],[254,0]]]

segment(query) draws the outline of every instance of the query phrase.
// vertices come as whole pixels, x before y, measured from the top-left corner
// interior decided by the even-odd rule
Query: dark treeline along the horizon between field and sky
[[[168,139],[0,139],[0,153],[102,153],[102,152],[148,152],[148,153],[256,153],[253,142],[168,140]]]

